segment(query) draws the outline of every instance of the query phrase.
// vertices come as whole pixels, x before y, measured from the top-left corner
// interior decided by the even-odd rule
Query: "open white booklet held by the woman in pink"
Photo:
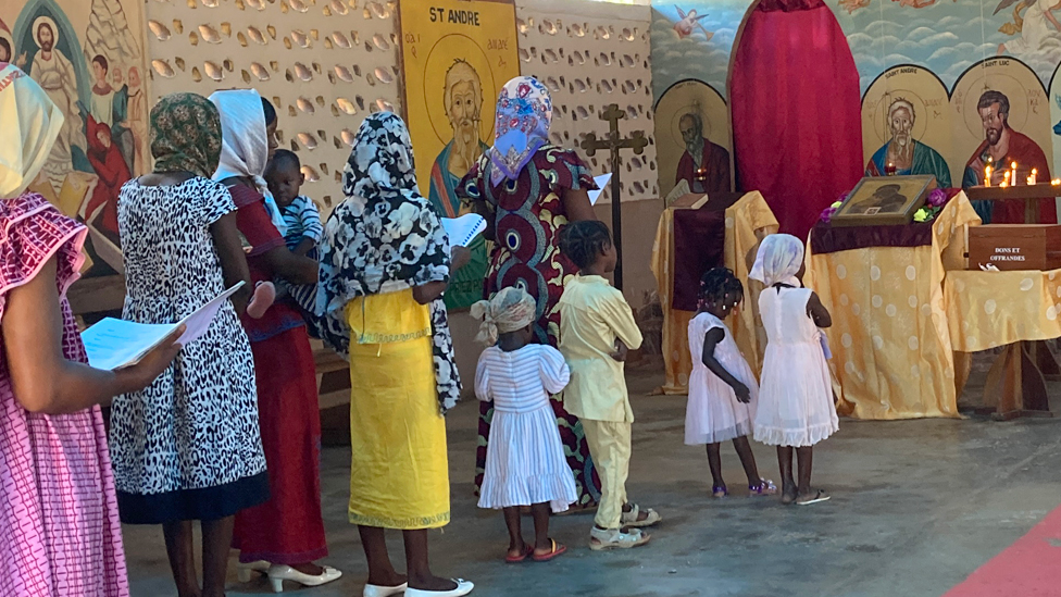
[[[88,364],[108,371],[136,364],[182,324],[187,327],[177,344],[187,346],[207,333],[222,303],[242,285],[240,282],[217,295],[177,323],[136,323],[114,318],[100,321],[82,334]]]

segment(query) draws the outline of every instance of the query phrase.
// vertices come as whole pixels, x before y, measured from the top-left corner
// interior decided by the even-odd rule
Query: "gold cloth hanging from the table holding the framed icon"
[[[959,192],[936,217],[931,246],[812,254],[808,242],[803,282],[833,314],[829,368],[840,414],[960,416],[950,323],[961,320],[947,309],[944,279],[964,269],[965,229],[978,224]]]

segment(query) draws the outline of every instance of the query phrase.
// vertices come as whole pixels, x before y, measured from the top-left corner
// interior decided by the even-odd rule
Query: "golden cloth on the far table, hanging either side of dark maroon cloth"
[[[659,286],[660,303],[663,307],[663,363],[665,381],[664,394],[686,394],[689,387],[689,373],[692,360],[689,356],[689,320],[695,313],[674,309],[671,293],[674,272],[674,210],[667,208],[660,216],[652,246],[652,273]],[[759,290],[762,285],[748,283],[748,272],[756,260],[759,240],[767,234],[777,232],[774,217],[766,200],[759,191],[745,194],[725,211],[725,265],[734,271],[745,285],[745,301],[735,318],[727,322],[734,339],[744,352],[748,364],[757,374],[762,366],[765,349],[765,333],[759,320]]]

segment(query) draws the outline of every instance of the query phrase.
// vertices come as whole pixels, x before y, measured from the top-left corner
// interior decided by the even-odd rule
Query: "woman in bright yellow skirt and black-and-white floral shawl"
[[[472,583],[435,576],[427,530],[449,523],[446,422],[460,381],[442,291],[467,251],[453,249],[416,187],[399,116],[365,119],[344,172],[346,200],[321,245],[317,307],[333,348],[350,358],[350,522],[369,560],[365,597],[460,597]],[[402,531],[407,575],[385,528]]]

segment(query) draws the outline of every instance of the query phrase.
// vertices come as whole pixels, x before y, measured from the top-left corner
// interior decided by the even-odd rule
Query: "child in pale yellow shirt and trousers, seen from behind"
[[[662,520],[651,508],[626,501],[634,411],[623,361],[628,349],[641,346],[641,333],[623,294],[603,277],[616,261],[608,227],[597,221],[571,223],[560,250],[578,266],[560,297],[560,351],[571,369],[564,407],[582,421],[601,483],[589,548],[637,547],[649,540],[638,527]]]

